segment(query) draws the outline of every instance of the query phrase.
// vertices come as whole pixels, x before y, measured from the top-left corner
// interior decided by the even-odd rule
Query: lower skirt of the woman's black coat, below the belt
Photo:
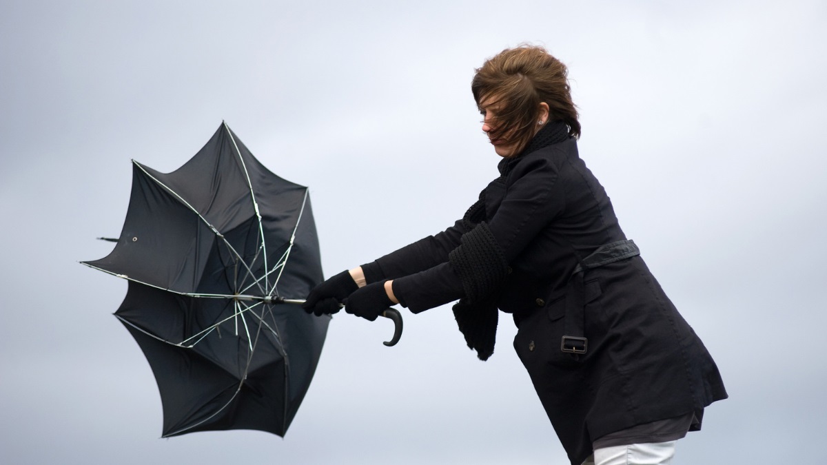
[[[583,282],[586,354],[560,351],[565,290],[521,319],[514,338],[572,464],[593,439],[727,397],[709,352],[641,256],[586,271]]]

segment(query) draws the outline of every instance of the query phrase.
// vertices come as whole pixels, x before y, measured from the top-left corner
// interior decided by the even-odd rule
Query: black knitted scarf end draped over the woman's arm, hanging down
[[[508,274],[508,263],[484,221],[462,235],[460,247],[448,254],[448,261],[465,292],[453,307],[454,318],[468,348],[476,350],[480,360],[488,360],[497,336],[496,291]]]

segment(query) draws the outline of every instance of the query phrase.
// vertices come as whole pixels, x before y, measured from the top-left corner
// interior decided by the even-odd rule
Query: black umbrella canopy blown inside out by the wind
[[[165,437],[284,435],[330,320],[280,303],[323,280],[306,187],[267,170],[222,123],[172,173],[133,161],[117,245],[84,264],[129,280],[115,315],[155,373]]]

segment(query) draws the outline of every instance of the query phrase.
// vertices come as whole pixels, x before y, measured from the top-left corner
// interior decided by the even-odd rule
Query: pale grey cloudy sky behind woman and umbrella
[[[581,156],[709,348],[730,399],[676,465],[823,463],[827,2],[0,2],[0,463],[547,463],[566,455],[500,319],[333,319],[285,439],[158,439],[112,312],[130,159],[226,120],[310,187],[325,276],[450,226],[497,173],[471,98],[528,41],[569,66]]]

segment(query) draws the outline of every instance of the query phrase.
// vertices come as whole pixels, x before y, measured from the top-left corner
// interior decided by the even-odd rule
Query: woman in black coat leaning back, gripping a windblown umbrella
[[[498,309],[512,314],[514,348],[572,465],[670,463],[726,391],[578,156],[565,65],[538,46],[504,50],[471,91],[500,177],[454,226],[333,276],[304,308],[345,302],[373,320],[391,304],[419,313],[459,300],[457,323],[482,360]]]

